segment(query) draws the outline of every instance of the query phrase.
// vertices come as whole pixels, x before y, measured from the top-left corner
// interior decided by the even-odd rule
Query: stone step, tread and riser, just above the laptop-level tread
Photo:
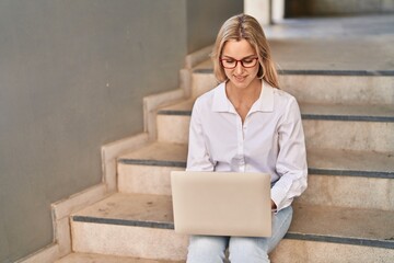
[[[170,172],[186,167],[187,145],[153,142],[118,158],[123,193],[171,195]],[[309,187],[297,201],[394,210],[394,156],[374,151],[309,149]]]

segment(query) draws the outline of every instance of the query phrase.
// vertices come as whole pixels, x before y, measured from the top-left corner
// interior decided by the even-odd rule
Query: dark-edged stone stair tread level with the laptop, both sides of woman
[[[394,248],[394,211],[293,206],[290,239]],[[74,221],[173,229],[171,196],[116,193],[72,216]]]

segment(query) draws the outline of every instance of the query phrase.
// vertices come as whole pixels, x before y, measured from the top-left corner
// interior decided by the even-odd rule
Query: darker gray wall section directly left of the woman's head
[[[241,0],[188,0],[188,53],[212,45],[221,24],[231,15],[242,12],[243,1]]]

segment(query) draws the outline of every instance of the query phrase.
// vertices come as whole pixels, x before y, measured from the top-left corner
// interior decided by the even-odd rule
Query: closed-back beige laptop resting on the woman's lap
[[[270,175],[173,171],[175,232],[270,237]]]

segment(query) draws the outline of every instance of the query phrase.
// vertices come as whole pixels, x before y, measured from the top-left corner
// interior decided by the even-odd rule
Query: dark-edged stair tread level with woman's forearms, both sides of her
[[[394,178],[394,155],[391,152],[308,149],[310,173]],[[126,164],[186,167],[187,145],[153,142],[118,161]]]

